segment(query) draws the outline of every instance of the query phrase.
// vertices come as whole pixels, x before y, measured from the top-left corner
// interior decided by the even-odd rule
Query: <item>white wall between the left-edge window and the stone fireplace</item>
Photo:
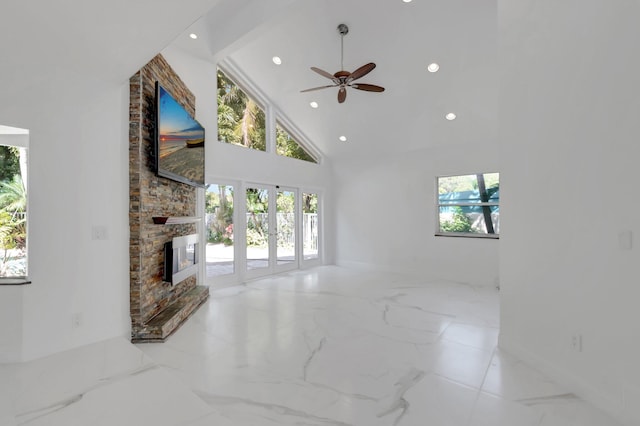
[[[43,93],[46,111],[0,104],[2,124],[30,131],[32,281],[0,288],[3,306],[13,306],[6,312],[20,316],[3,321],[3,335],[15,331],[3,361],[128,334],[128,98],[126,83],[95,87],[73,103]],[[91,239],[94,225],[107,240]]]

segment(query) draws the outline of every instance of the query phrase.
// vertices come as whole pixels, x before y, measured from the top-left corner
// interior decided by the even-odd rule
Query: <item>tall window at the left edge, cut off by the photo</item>
[[[4,284],[27,280],[28,141],[27,130],[0,126],[0,283]]]

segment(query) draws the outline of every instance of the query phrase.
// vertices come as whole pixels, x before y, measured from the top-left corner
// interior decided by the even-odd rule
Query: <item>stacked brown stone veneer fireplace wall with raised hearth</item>
[[[154,216],[197,216],[196,188],[156,176],[153,170],[155,82],[192,115],[195,96],[162,55],[129,81],[130,310],[134,342],[162,341],[209,296],[192,276],[163,282],[164,243],[197,232],[194,223],[156,225]]]

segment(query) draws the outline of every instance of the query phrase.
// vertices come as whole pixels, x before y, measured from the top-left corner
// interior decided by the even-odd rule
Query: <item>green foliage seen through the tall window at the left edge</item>
[[[20,174],[20,149],[0,147],[0,276],[26,275],[27,192]]]

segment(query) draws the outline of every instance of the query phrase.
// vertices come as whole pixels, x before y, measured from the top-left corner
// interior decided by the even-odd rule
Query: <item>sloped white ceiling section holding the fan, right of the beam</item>
[[[245,1],[243,6],[226,16],[214,9],[176,45],[193,52],[207,46],[211,58],[232,63],[328,157],[442,145],[482,150],[495,140],[496,0]],[[247,34],[228,41],[230,47],[221,52],[219,39],[243,19],[249,22]],[[348,90],[343,104],[335,88],[300,93],[331,83],[310,67],[340,70],[340,23],[350,30],[344,38],[345,69],[375,62],[360,82],[384,86],[385,92]],[[207,33],[194,41],[188,38],[192,31]],[[275,55],[282,65],[273,64]],[[440,64],[439,72],[427,71],[432,62]],[[319,108],[312,109],[311,101]],[[445,120],[448,112],[458,118]],[[338,140],[341,135],[346,143]]]

